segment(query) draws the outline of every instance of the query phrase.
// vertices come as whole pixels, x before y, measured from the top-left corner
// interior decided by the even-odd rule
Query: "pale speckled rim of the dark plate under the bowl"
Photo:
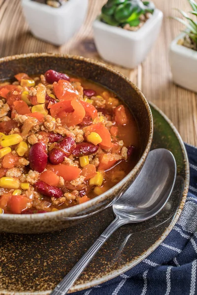
[[[101,276],[98,279],[92,280],[92,281],[88,281],[85,284],[80,284],[80,285],[74,285],[70,291],[68,293],[73,293],[73,292],[77,292],[77,291],[82,291],[88,288],[92,288],[94,286],[97,286],[99,284],[102,284],[108,280],[111,280],[113,278],[115,278],[116,276],[126,272],[127,270],[131,269],[133,266],[136,266],[138,263],[140,263],[143,259],[145,259],[148,255],[150,255],[165,239],[165,237],[170,233],[170,231],[172,230],[172,228],[174,227],[175,223],[177,222],[183,207],[185,205],[185,201],[187,198],[187,194],[188,194],[188,190],[189,190],[189,181],[190,181],[190,168],[189,168],[189,160],[188,160],[188,155],[187,155],[187,151],[184,145],[184,142],[180,136],[180,134],[178,133],[177,129],[175,128],[175,126],[173,125],[173,123],[170,121],[169,118],[167,118],[167,116],[153,103],[149,102],[150,106],[153,107],[156,111],[158,111],[160,113],[160,115],[167,121],[167,123],[170,125],[170,127],[172,128],[172,130],[174,131],[175,136],[177,137],[179,144],[182,148],[183,151],[183,156],[184,156],[184,164],[185,164],[185,183],[184,183],[184,190],[183,190],[183,194],[182,194],[182,198],[179,204],[179,207],[176,211],[176,215],[174,216],[171,224],[169,225],[169,227],[164,231],[164,233],[162,234],[162,236],[146,251],[144,252],[140,257],[138,257],[137,259],[133,260],[131,263],[126,264],[125,266],[123,266],[122,268],[118,269],[118,270],[114,270],[113,272]],[[51,290],[52,291],[52,290]],[[7,291],[0,291],[0,295],[49,295],[51,293],[51,291],[41,291],[41,292],[7,292]]]

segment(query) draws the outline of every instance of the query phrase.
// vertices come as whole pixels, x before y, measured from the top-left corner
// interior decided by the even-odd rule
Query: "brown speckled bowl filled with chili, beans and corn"
[[[104,64],[28,54],[0,59],[0,231],[61,230],[109,207],[153,138],[144,95]]]

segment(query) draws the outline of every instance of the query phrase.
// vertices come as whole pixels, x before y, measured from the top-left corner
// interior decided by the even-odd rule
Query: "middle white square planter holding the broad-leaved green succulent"
[[[155,9],[153,16],[137,31],[107,25],[99,20],[93,24],[97,50],[106,61],[134,68],[141,63],[161,29],[163,13]]]

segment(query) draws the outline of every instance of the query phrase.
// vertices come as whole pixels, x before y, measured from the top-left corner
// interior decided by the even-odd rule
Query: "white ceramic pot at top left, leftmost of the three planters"
[[[33,35],[60,46],[80,29],[86,17],[88,0],[68,0],[59,8],[22,0],[22,7]]]

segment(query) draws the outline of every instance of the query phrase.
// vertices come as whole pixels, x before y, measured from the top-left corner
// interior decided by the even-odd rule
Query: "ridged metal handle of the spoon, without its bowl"
[[[66,274],[65,278],[57,285],[50,295],[66,295],[72,284],[78,279],[80,274],[97,254],[109,236],[111,236],[113,232],[115,232],[115,230],[117,230],[123,224],[123,220],[120,220],[119,217],[116,217],[114,221],[112,221],[112,223],[108,226],[108,228],[102,233],[102,235],[99,236],[99,238],[84,254],[84,256],[76,263],[76,265],[68,272],[68,274]]]

